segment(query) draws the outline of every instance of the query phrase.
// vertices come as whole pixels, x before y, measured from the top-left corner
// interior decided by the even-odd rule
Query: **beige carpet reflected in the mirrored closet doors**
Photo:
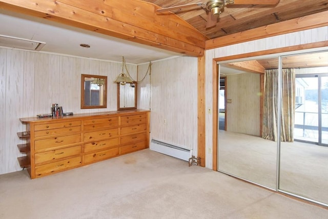
[[[281,142],[280,187],[328,203],[328,147]],[[220,171],[276,188],[277,142],[247,134],[219,131]]]

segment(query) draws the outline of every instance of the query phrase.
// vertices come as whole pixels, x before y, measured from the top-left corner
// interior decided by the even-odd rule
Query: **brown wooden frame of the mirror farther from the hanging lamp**
[[[93,77],[104,79],[104,94],[103,94],[103,105],[93,105],[89,106],[85,103],[85,78]],[[107,108],[107,76],[101,75],[92,75],[92,74],[81,74],[81,109],[98,109],[98,108]]]

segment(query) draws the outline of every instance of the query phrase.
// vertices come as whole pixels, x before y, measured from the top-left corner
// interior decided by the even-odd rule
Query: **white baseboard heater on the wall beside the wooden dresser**
[[[189,161],[189,158],[192,156],[193,152],[192,149],[183,148],[177,145],[168,144],[154,139],[152,139],[149,149],[152,151],[179,158],[183,161]]]

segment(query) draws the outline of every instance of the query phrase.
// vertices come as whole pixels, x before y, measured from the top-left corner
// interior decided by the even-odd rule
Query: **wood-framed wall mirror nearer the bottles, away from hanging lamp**
[[[81,109],[107,108],[107,76],[81,74]]]

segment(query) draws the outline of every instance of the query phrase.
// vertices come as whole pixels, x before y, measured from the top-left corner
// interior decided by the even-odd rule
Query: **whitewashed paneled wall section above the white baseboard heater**
[[[138,78],[148,65],[138,66]],[[138,108],[151,109],[150,138],[193,149],[197,156],[197,58],[152,63],[151,77],[138,84],[138,94]]]

